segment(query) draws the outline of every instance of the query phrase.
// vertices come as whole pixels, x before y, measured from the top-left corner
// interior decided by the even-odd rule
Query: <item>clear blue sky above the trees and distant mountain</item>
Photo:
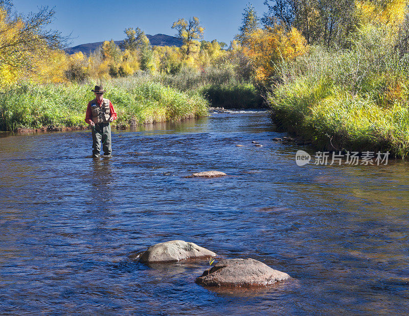
[[[197,16],[205,27],[205,39],[230,43],[241,24],[244,7],[251,3],[261,16],[264,0],[14,0],[14,10],[37,11],[37,7],[55,7],[52,28],[72,33],[72,46],[103,40],[124,39],[124,29],[140,27],[146,34],[175,35],[173,21]]]

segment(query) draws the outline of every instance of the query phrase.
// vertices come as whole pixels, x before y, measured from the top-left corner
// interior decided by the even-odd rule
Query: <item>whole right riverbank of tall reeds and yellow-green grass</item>
[[[362,43],[363,42],[363,43]],[[370,42],[369,40],[367,42]],[[280,127],[317,148],[409,155],[408,62],[360,41],[351,50],[310,54],[281,69],[269,98]]]

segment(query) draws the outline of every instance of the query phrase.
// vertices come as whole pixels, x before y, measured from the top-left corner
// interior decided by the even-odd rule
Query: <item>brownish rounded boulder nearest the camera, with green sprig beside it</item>
[[[254,259],[225,259],[203,272],[195,281],[207,286],[253,287],[268,286],[288,278],[288,274]]]

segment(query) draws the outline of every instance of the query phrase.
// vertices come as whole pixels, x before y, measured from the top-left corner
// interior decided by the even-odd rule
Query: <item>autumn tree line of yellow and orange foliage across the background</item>
[[[22,79],[38,82],[108,80],[138,71],[174,75],[184,68],[234,69],[243,80],[277,82],[283,63],[296,61],[311,46],[329,50],[356,45],[358,30],[382,29],[389,44],[407,53],[409,33],[405,0],[265,0],[259,16],[252,5],[244,8],[238,34],[226,43],[203,40],[198,17],[179,18],[172,24],[181,47],[151,46],[139,27],[124,30],[119,46],[104,41],[96,52],[67,55],[67,37],[49,30],[54,10],[11,14],[12,1],[0,0],[0,86]],[[362,34],[359,33],[359,34]],[[388,37],[389,36],[389,37]]]

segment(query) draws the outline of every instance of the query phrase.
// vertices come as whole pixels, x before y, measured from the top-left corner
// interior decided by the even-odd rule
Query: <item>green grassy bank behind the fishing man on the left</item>
[[[84,128],[93,84],[23,84],[0,94],[0,130],[47,127]],[[114,125],[129,126],[206,116],[208,102],[199,93],[183,93],[160,83],[134,78],[105,84],[104,98],[118,113]]]

